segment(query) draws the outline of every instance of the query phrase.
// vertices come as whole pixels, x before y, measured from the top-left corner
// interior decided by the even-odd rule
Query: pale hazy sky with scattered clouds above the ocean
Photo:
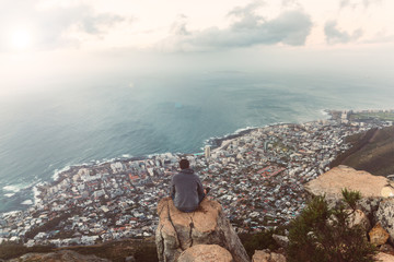
[[[392,0],[0,0],[0,95],[120,72],[393,75],[393,11]]]

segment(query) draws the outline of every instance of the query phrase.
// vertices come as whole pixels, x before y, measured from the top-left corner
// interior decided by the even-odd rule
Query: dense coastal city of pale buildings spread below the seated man
[[[0,242],[63,247],[153,236],[155,206],[169,195],[181,158],[189,159],[210,188],[209,198],[220,202],[237,233],[287,224],[304,206],[303,184],[327,171],[349,148],[346,136],[393,124],[355,120],[350,114],[331,111],[329,120],[252,129],[198,154],[70,167],[37,188],[27,211],[0,216]]]

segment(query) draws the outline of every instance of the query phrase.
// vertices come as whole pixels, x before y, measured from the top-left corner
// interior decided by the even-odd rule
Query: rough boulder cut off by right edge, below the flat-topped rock
[[[394,242],[394,199],[385,199],[380,203],[375,219],[387,230],[390,240]]]

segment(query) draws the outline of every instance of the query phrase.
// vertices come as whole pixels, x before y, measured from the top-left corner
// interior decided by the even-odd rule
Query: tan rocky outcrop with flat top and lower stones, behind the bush
[[[358,171],[351,167],[338,166],[321,175],[305,184],[305,190],[312,195],[325,194],[328,203],[336,204],[341,199],[341,190],[356,190],[362,199],[358,207],[367,215],[370,224],[380,223],[383,230],[394,242],[394,182],[381,176],[373,176],[367,171]],[[358,214],[359,213],[359,214]],[[351,224],[359,224],[368,230],[370,227],[362,213],[357,211]],[[379,229],[372,230],[370,239],[375,245],[382,245],[383,234]],[[379,240],[378,240],[379,239]]]

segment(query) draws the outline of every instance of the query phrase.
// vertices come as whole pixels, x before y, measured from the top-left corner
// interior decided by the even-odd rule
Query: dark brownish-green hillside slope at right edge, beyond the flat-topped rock
[[[376,176],[394,174],[394,126],[350,135],[346,142],[352,147],[340,154],[331,167],[346,165]]]

